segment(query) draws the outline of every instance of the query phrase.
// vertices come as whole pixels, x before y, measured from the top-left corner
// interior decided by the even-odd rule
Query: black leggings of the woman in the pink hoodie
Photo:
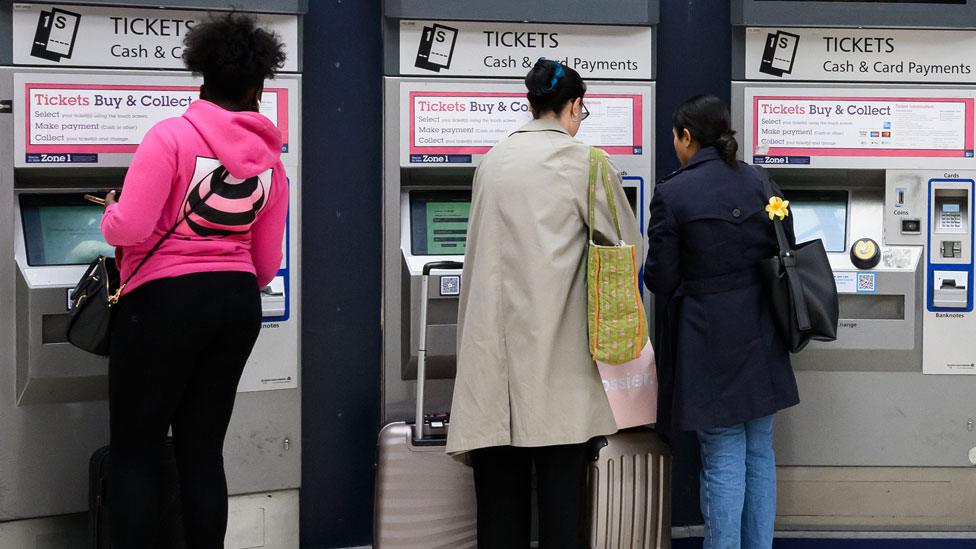
[[[240,272],[164,278],[117,307],[109,359],[112,547],[156,546],[158,471],[172,426],[186,547],[222,548],[224,435],[261,329],[257,281]]]

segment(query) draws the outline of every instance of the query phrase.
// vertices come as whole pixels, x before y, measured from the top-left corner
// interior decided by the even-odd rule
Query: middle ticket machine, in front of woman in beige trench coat
[[[540,57],[587,81],[582,141],[624,172],[646,226],[654,175],[657,2],[387,0],[384,6],[383,419],[412,417],[424,264],[463,259],[482,156],[531,119],[525,74]],[[638,5],[642,4],[642,5]],[[461,271],[435,271],[428,313],[429,411],[450,408]]]

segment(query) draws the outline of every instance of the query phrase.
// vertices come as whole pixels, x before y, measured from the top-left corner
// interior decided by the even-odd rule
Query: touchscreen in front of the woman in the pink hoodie
[[[84,265],[98,255],[113,255],[99,226],[103,210],[81,194],[21,195],[27,264]]]

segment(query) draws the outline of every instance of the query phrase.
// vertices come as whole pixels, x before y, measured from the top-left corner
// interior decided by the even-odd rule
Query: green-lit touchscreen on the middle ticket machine
[[[410,247],[413,255],[464,255],[471,193],[410,193]]]

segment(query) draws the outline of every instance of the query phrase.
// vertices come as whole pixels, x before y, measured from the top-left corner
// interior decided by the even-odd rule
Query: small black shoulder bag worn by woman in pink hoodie
[[[190,210],[183,214],[170,230],[166,231],[166,234],[156,242],[149,253],[132,270],[128,280],[132,280],[136,276],[139,269],[142,269],[146,261],[159,250],[163,242],[172,236],[176,229],[212,194],[213,189],[199,202],[193,204]],[[69,343],[83,351],[108,356],[112,333],[112,307],[118,303],[122,290],[125,289],[125,283],[121,282],[120,279],[119,269],[115,265],[114,258],[100,255],[91,262],[69,296],[72,303],[71,313],[68,317]]]

